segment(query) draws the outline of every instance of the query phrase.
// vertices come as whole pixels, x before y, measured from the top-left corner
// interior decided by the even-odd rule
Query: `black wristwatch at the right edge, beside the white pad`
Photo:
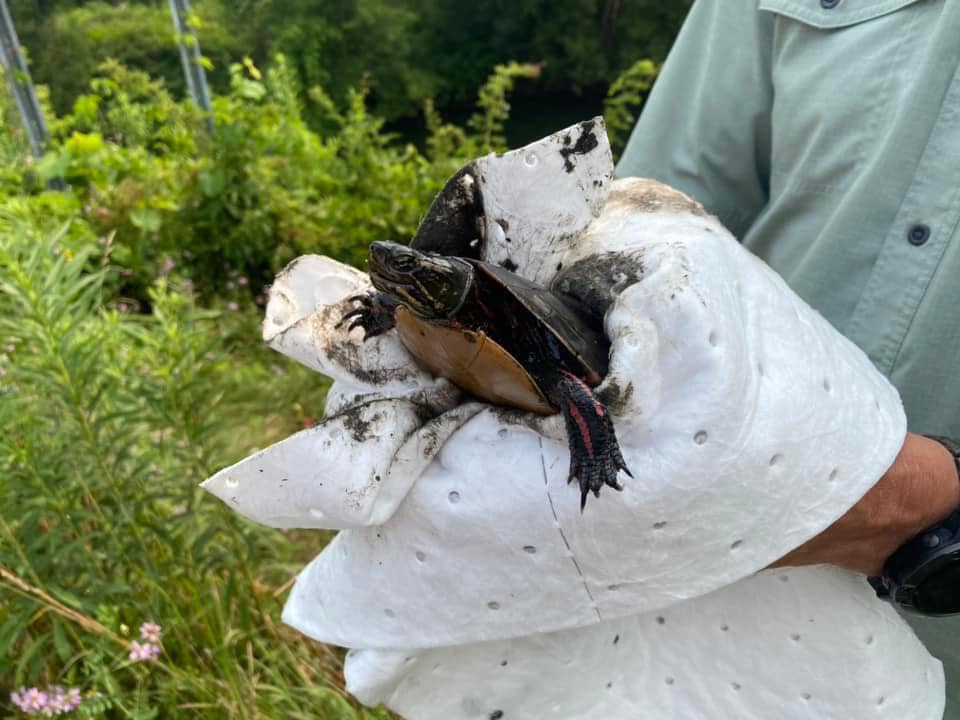
[[[928,435],[947,448],[960,474],[960,442]],[[882,577],[867,578],[877,597],[921,615],[960,614],[960,508],[896,550]]]

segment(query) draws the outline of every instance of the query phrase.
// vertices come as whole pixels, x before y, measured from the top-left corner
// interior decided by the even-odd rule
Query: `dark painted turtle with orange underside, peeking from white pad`
[[[610,348],[594,323],[550,290],[473,258],[375,242],[369,263],[378,292],[352,298],[359,304],[341,325],[363,328],[365,340],[396,328],[427,369],[481,399],[562,412],[568,481],[580,483],[581,510],[589,492],[623,489],[617,474],[630,471],[591,390],[606,373]]]

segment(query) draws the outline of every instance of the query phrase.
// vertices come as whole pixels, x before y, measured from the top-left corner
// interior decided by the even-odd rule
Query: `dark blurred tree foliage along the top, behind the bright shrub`
[[[195,25],[210,80],[226,90],[231,63],[249,53],[261,67],[282,54],[303,88],[337,102],[367,89],[388,121],[419,117],[432,99],[446,114],[469,110],[490,68],[537,64],[542,78],[523,90],[556,102],[606,87],[641,58],[661,61],[690,0],[195,0]],[[108,57],[163,78],[183,93],[165,4],[102,0],[12,0],[36,79],[61,112]],[[319,127],[325,118],[306,108]]]

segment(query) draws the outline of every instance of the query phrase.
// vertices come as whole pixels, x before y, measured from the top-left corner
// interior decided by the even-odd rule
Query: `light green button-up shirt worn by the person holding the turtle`
[[[700,200],[960,438],[960,0],[697,0],[617,174]],[[960,720],[960,620],[910,621]]]

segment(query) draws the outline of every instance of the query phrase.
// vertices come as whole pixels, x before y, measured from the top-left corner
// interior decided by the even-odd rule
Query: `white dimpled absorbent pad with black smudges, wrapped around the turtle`
[[[392,335],[336,327],[365,278],[301,260],[265,336],[336,378],[327,419],[205,484],[347,528],[284,619],[354,648],[351,691],[411,720],[937,717],[939,664],[862,577],[760,572],[891,464],[896,392],[696,203],[611,184],[602,126],[558,152],[578,128],[475,161],[483,254],[621,281],[601,390],[634,479],[581,514],[562,420],[458,405]]]

